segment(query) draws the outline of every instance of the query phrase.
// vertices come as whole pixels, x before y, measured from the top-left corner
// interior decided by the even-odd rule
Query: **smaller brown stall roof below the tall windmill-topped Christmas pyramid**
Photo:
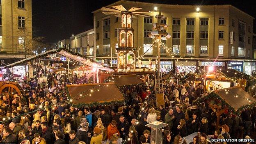
[[[137,85],[139,83],[144,83],[139,77],[137,77],[137,75],[115,75],[113,78],[113,81],[117,84],[117,86]]]

